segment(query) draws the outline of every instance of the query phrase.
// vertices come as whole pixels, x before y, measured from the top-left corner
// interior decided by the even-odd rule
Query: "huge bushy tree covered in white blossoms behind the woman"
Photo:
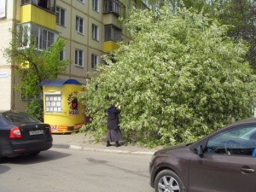
[[[228,38],[228,26],[169,6],[134,10],[126,26],[133,40],[106,56],[79,93],[96,138],[106,134],[109,102],[122,104],[125,140],[148,147],[194,141],[253,115],[247,45]]]

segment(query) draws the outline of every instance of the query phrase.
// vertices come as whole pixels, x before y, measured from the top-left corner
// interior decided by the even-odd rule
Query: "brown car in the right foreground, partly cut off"
[[[156,192],[255,192],[256,119],[214,131],[195,143],[161,149],[149,165]]]

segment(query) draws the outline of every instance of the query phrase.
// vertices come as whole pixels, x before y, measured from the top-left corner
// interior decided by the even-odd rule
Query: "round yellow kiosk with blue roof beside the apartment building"
[[[82,84],[75,79],[45,79],[39,85],[44,93],[44,123],[51,126],[52,133],[79,131],[84,125],[77,99]]]

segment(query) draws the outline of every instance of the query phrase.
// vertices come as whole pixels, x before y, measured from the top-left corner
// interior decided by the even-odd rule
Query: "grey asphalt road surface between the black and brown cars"
[[[151,155],[51,148],[38,156],[3,160],[1,192],[154,192]]]

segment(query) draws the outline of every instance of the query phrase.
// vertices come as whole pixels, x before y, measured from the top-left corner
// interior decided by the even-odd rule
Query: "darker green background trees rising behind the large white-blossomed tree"
[[[234,40],[247,41],[249,49],[244,57],[256,69],[256,1],[254,0],[146,0],[148,6],[158,11],[163,4],[175,10],[187,9],[202,12],[217,19],[222,25],[230,25],[228,36]],[[255,73],[255,71],[254,71]]]

